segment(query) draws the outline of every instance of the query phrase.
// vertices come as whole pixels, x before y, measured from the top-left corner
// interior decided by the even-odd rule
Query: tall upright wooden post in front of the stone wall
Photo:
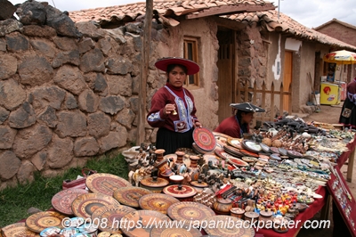
[[[143,25],[143,44],[142,44],[142,63],[141,63],[141,82],[139,85],[139,123],[137,126],[137,141],[140,145],[145,141],[145,124],[146,124],[146,86],[149,74],[150,64],[150,31],[153,17],[153,0],[146,0],[146,16]]]

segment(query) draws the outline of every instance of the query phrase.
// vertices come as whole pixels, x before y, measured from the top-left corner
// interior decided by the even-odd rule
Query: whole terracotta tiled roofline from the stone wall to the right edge
[[[164,0],[153,2],[153,12],[163,23],[175,26],[174,20],[184,15],[186,18],[219,15],[222,18],[236,20],[246,24],[258,23],[268,31],[283,33],[289,37],[333,45],[336,49],[356,51],[356,47],[333,37],[328,37],[314,29],[307,28],[282,12],[273,10],[275,6],[263,0]],[[75,21],[94,20],[102,25],[124,25],[134,21],[146,11],[146,3],[125,4],[95,9],[69,12]]]

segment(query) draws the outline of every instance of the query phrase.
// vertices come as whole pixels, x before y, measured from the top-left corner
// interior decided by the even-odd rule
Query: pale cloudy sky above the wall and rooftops
[[[24,0],[9,0],[12,4],[21,4]],[[78,11],[96,7],[146,2],[145,0],[47,0],[49,4],[63,11]],[[355,0],[269,0],[279,5],[283,12],[308,28],[316,28],[333,20],[344,21],[356,26]],[[278,10],[278,8],[276,8]]]

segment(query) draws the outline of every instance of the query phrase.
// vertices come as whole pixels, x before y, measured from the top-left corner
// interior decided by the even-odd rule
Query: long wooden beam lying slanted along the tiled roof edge
[[[239,5],[223,5],[223,6],[216,6],[210,7],[207,9],[203,9],[198,13],[190,13],[185,18],[186,19],[196,19],[202,18],[206,16],[214,16],[214,15],[231,15],[235,13],[241,12],[264,12],[268,10],[274,10],[276,7],[273,4],[265,4],[265,5],[246,5],[246,4],[239,4]]]

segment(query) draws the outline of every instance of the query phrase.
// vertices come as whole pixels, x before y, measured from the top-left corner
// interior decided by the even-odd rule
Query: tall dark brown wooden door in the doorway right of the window
[[[217,34],[220,46],[217,61],[217,68],[219,69],[219,73],[216,83],[219,93],[219,123],[222,122],[223,119],[226,119],[232,115],[230,103],[234,100],[233,93],[235,88],[234,45],[232,36],[232,30],[218,31]]]

